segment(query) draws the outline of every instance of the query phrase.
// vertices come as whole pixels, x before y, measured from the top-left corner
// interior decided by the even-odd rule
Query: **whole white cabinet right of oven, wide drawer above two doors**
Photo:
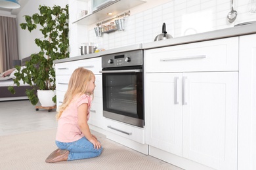
[[[238,37],[147,50],[144,60],[149,153],[184,169],[237,169]]]

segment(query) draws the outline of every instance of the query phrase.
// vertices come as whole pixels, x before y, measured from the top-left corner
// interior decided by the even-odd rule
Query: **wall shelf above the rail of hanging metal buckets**
[[[107,18],[110,18],[108,15],[108,12],[112,12],[115,16],[119,14],[120,12],[123,12],[125,10],[129,10],[133,7],[136,7],[137,5],[141,5],[142,3],[146,3],[146,0],[119,0],[115,1],[112,5],[109,5],[108,7],[104,7],[103,9],[96,10],[95,12],[91,14],[87,14],[75,22],[73,24],[83,24],[83,25],[91,25],[95,24],[96,22],[100,22],[101,20],[105,20]]]

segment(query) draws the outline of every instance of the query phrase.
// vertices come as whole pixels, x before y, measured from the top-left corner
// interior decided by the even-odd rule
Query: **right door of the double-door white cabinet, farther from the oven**
[[[182,76],[182,156],[214,169],[237,169],[238,72]]]

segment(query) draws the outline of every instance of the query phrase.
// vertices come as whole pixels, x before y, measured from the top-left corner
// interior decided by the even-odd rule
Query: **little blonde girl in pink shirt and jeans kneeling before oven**
[[[87,124],[93,90],[93,72],[82,67],[75,69],[56,114],[58,129],[55,143],[58,149],[48,156],[47,163],[93,158],[101,154],[101,144]]]

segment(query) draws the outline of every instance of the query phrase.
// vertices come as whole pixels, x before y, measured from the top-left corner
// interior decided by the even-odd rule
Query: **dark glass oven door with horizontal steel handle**
[[[144,120],[142,66],[102,69],[102,84],[104,111]]]

